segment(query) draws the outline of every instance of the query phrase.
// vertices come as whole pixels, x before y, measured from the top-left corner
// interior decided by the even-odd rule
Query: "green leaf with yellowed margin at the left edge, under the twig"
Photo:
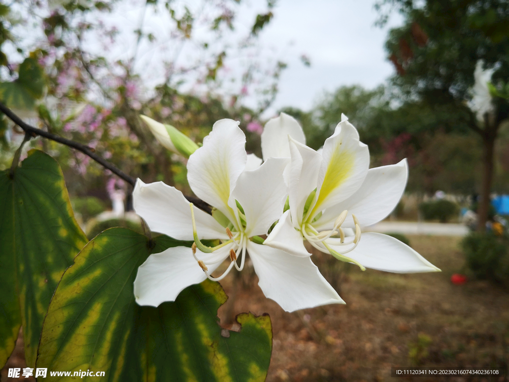
[[[34,367],[51,296],[86,242],[53,158],[32,150],[13,176],[0,172],[0,365],[22,324],[26,363]]]

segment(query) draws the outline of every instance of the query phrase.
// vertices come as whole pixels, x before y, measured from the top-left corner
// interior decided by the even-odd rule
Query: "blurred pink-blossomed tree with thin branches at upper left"
[[[253,14],[247,29],[236,20],[243,7],[237,0],[126,3],[0,5],[0,99],[16,112],[30,112],[24,117],[38,117],[41,128],[87,144],[127,173],[185,183],[185,164],[157,144],[138,115],[173,124],[196,140],[221,118],[256,122],[273,101],[285,67],[274,54],[270,59],[260,54],[258,42],[275,2],[266,3],[265,13]],[[125,22],[126,8],[136,10],[138,21]],[[253,110],[242,105],[247,96],[257,102]],[[7,130],[0,120],[0,138],[13,142],[12,149],[21,131]],[[256,132],[247,135],[259,140]],[[89,157],[52,142],[42,145],[58,157],[71,192],[84,196],[109,181]],[[77,178],[86,186],[73,187]]]

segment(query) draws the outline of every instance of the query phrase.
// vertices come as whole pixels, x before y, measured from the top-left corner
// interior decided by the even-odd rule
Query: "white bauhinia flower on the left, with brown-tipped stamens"
[[[134,282],[139,305],[174,301],[189,285],[206,278],[220,280],[233,267],[241,270],[246,253],[261,289],[283,309],[344,304],[307,252],[288,254],[261,244],[259,235],[268,232],[284,207],[287,186],[282,172],[290,159],[269,158],[259,167],[254,159],[251,166],[244,146],[245,135],[238,122],[221,120],[214,124],[203,147],[189,157],[189,185],[197,197],[214,206],[214,217],[192,208],[175,187],[137,180],[134,209],[151,230],[177,240],[195,241],[192,249],[169,248],[149,256],[139,267]],[[249,170],[253,167],[256,169]],[[209,248],[202,244],[204,239],[220,239],[222,243]],[[223,275],[212,277],[228,258],[230,265]]]

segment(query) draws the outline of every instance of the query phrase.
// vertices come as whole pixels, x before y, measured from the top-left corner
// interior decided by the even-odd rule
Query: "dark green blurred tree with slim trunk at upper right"
[[[509,3],[505,0],[385,0],[376,7],[379,24],[397,9],[404,25],[390,30],[386,42],[397,75],[392,78],[405,102],[450,110],[483,142],[478,229],[485,229],[493,181],[494,147],[509,113]],[[474,70],[483,60],[493,68],[494,113],[478,118],[467,105]]]

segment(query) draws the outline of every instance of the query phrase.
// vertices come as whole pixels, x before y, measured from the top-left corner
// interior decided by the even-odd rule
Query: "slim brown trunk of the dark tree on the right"
[[[490,211],[491,184],[493,182],[493,162],[495,151],[496,127],[486,124],[483,134],[483,172],[480,188],[480,201],[477,207],[477,231],[486,231],[486,222]]]

